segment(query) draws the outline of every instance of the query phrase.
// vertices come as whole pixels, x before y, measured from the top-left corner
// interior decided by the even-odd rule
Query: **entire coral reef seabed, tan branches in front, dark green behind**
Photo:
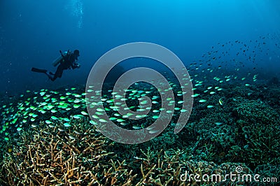
[[[85,112],[82,88],[27,92],[1,107],[0,183],[259,185],[248,180],[223,180],[230,173],[280,179],[280,112],[279,101],[275,101],[279,95],[274,94],[277,88],[272,91],[265,85],[230,85],[214,96],[205,89],[208,90],[197,88],[201,97],[195,99],[190,120],[179,134],[174,134],[180,110],[176,100],[176,112],[165,131],[137,145],[116,143],[102,136]],[[131,107],[141,94],[144,92],[130,92]],[[146,94],[153,96],[153,92]],[[154,101],[160,103],[158,94],[154,95]],[[111,97],[104,100],[106,113],[113,120],[120,119]],[[158,112],[159,104],[153,110]],[[100,114],[97,112],[96,117]],[[153,120],[147,117],[139,123],[127,122],[125,127],[146,127],[141,122]],[[214,179],[221,176],[221,181],[211,180],[213,175]],[[199,182],[197,176],[205,179]]]

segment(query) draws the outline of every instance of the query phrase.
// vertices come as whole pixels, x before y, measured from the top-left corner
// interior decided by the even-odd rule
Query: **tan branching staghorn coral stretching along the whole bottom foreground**
[[[99,136],[94,127],[85,124],[86,120],[72,122],[75,124],[67,131],[62,130],[62,124],[39,125],[22,131],[18,141],[10,141],[13,152],[2,152],[1,182],[6,185],[192,185],[196,183],[193,178],[188,182],[181,180],[186,171],[222,175],[240,165],[193,162],[186,151],[151,148],[140,149],[127,163],[110,151],[118,143]],[[246,166],[242,167],[244,173],[250,172]]]

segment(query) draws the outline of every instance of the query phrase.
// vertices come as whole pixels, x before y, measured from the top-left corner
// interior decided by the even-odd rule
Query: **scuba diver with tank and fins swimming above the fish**
[[[36,69],[32,68],[31,71],[38,72],[38,73],[45,73],[45,75],[50,78],[50,80],[54,81],[57,78],[62,77],[62,73],[66,69],[78,69],[80,68],[80,64],[77,63],[78,57],[80,56],[79,50],[74,50],[74,52],[71,52],[68,50],[67,52],[62,52],[59,50],[61,56],[57,57],[54,62],[52,62],[53,66],[57,66],[57,71],[55,73],[52,73],[50,71],[47,71],[45,69]]]

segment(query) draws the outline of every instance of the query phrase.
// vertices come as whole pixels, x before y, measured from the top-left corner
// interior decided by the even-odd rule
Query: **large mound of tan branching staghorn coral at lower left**
[[[22,131],[13,152],[3,155],[1,181],[7,185],[118,185],[120,177],[125,179],[122,183],[129,183],[132,171],[127,172],[125,161],[109,158],[113,152],[106,151],[110,146],[106,138],[78,123],[82,122],[67,132],[59,127]]]

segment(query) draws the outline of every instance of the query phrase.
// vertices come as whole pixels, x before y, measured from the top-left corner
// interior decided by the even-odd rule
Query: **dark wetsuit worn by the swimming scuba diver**
[[[76,63],[76,59],[78,59],[78,56],[74,55],[73,53],[69,55],[62,55],[62,62],[59,63],[59,66],[57,66],[57,71],[55,73],[49,72],[45,69],[36,69],[32,68],[31,71],[38,72],[38,73],[45,73],[50,80],[54,81],[57,78],[62,77],[62,73],[66,69],[76,69],[79,68],[80,65]]]

